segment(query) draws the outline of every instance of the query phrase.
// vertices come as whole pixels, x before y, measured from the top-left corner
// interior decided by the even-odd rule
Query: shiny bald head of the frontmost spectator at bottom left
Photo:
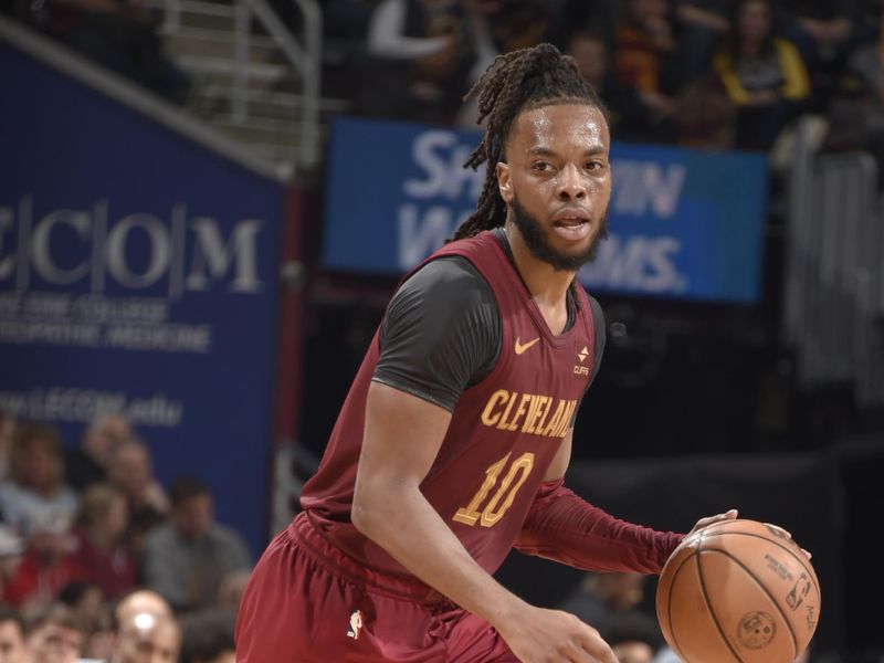
[[[110,663],[177,663],[180,650],[181,629],[172,617],[136,612],[119,623]]]

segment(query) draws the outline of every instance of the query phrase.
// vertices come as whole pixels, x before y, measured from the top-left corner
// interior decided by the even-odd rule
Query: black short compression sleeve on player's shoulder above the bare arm
[[[464,257],[434,260],[393,295],[379,340],[375,381],[452,411],[497,361],[501,320],[491,286]]]

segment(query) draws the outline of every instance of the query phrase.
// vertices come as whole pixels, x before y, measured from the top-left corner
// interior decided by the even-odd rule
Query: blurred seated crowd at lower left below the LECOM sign
[[[253,558],[120,414],[77,443],[0,412],[0,660],[232,663]]]

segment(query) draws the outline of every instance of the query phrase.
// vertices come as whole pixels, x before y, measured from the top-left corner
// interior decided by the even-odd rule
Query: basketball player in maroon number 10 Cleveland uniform
[[[591,625],[492,573],[513,547],[655,573],[682,539],[562,485],[604,343],[575,278],[604,236],[602,105],[548,44],[499,56],[473,92],[477,210],[389,304],[304,511],[245,590],[241,662],[617,663]]]

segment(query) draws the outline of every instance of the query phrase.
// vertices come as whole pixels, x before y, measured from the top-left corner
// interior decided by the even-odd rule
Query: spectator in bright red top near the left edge
[[[71,524],[66,516],[45,514],[29,527],[24,558],[3,590],[6,601],[19,609],[51,606],[69,582],[83,578],[69,555]]]

